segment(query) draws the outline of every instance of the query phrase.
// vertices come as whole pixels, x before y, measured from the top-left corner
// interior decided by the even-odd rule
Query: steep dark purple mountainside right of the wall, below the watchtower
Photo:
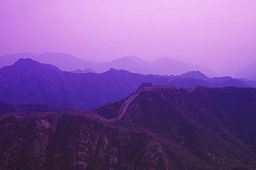
[[[116,124],[152,131],[215,169],[255,163],[256,88],[158,88],[140,92]],[[94,111],[103,115],[115,107]],[[106,111],[104,111],[106,109]],[[254,165],[255,166],[255,165]],[[243,167],[243,166],[241,166]]]

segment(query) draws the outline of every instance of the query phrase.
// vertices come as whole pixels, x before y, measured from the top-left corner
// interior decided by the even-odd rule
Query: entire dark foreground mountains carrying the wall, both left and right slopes
[[[124,102],[94,111],[115,116]],[[256,88],[149,86],[112,122],[72,110],[10,115],[0,119],[0,167],[255,169],[255,102]]]

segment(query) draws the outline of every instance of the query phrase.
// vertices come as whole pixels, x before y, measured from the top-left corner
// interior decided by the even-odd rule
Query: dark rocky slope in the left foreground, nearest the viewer
[[[0,121],[1,169],[184,169],[212,167],[174,142],[81,115]]]

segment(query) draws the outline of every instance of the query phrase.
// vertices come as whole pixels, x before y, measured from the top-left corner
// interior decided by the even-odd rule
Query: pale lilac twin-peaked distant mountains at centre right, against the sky
[[[179,60],[167,57],[157,59],[152,63],[145,62],[143,59],[136,56],[122,57],[111,62],[102,62],[100,64],[96,64],[95,66],[91,66],[91,68],[98,72],[103,72],[109,68],[124,69],[133,73],[141,73],[145,75],[180,75],[190,70],[200,70],[201,72],[205,73],[205,75],[210,77],[217,75],[217,73],[214,73],[214,71],[208,68],[202,68],[201,66],[192,64],[185,64]]]

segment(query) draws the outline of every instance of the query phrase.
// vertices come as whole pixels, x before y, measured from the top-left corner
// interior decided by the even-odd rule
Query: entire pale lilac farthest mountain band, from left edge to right
[[[85,70],[90,68],[95,70],[97,73],[103,73],[109,70],[109,68],[116,68],[145,75],[180,75],[190,70],[199,70],[209,77],[217,76],[217,73],[214,73],[213,70],[208,68],[186,64],[179,60],[167,57],[157,59],[152,63],[145,62],[143,59],[140,59],[136,56],[122,57],[120,59],[114,59],[111,62],[93,62],[86,59],[79,59],[73,55],[68,55],[65,53],[42,53],[41,55],[21,53],[0,57],[0,67],[10,66],[14,64],[19,58],[31,58],[44,64],[53,64],[61,70],[66,71],[74,71],[77,69]]]

